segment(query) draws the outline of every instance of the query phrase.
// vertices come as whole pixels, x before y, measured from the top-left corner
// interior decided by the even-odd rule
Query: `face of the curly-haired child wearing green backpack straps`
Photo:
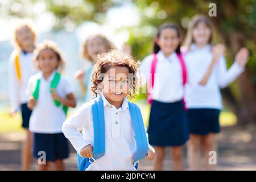
[[[56,53],[51,49],[43,49],[38,56],[39,68],[43,73],[52,73],[59,64]]]

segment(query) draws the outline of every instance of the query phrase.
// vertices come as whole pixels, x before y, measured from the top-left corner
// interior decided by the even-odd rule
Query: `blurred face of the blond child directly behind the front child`
[[[88,56],[95,62],[97,56],[105,52],[104,41],[98,36],[90,39],[87,44],[87,52]]]

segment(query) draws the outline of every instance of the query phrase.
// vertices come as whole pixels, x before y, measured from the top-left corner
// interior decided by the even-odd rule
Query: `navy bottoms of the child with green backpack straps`
[[[46,155],[46,161],[51,162],[68,158],[68,139],[65,138],[63,133],[34,133],[33,155],[35,158],[42,158],[44,154]]]

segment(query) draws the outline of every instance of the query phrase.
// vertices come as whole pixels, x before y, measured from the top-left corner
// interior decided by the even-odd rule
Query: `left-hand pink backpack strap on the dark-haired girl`
[[[153,55],[153,60],[151,62],[151,68],[150,68],[150,81],[148,82],[148,90],[147,90],[147,102],[148,104],[152,104],[151,99],[151,90],[155,83],[155,69],[156,69],[156,63],[158,59],[156,57],[156,53]]]

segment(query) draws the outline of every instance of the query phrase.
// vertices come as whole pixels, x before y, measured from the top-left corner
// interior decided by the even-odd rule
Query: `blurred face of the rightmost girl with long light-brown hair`
[[[204,22],[199,22],[192,31],[193,40],[197,45],[207,45],[211,34],[212,31]]]

